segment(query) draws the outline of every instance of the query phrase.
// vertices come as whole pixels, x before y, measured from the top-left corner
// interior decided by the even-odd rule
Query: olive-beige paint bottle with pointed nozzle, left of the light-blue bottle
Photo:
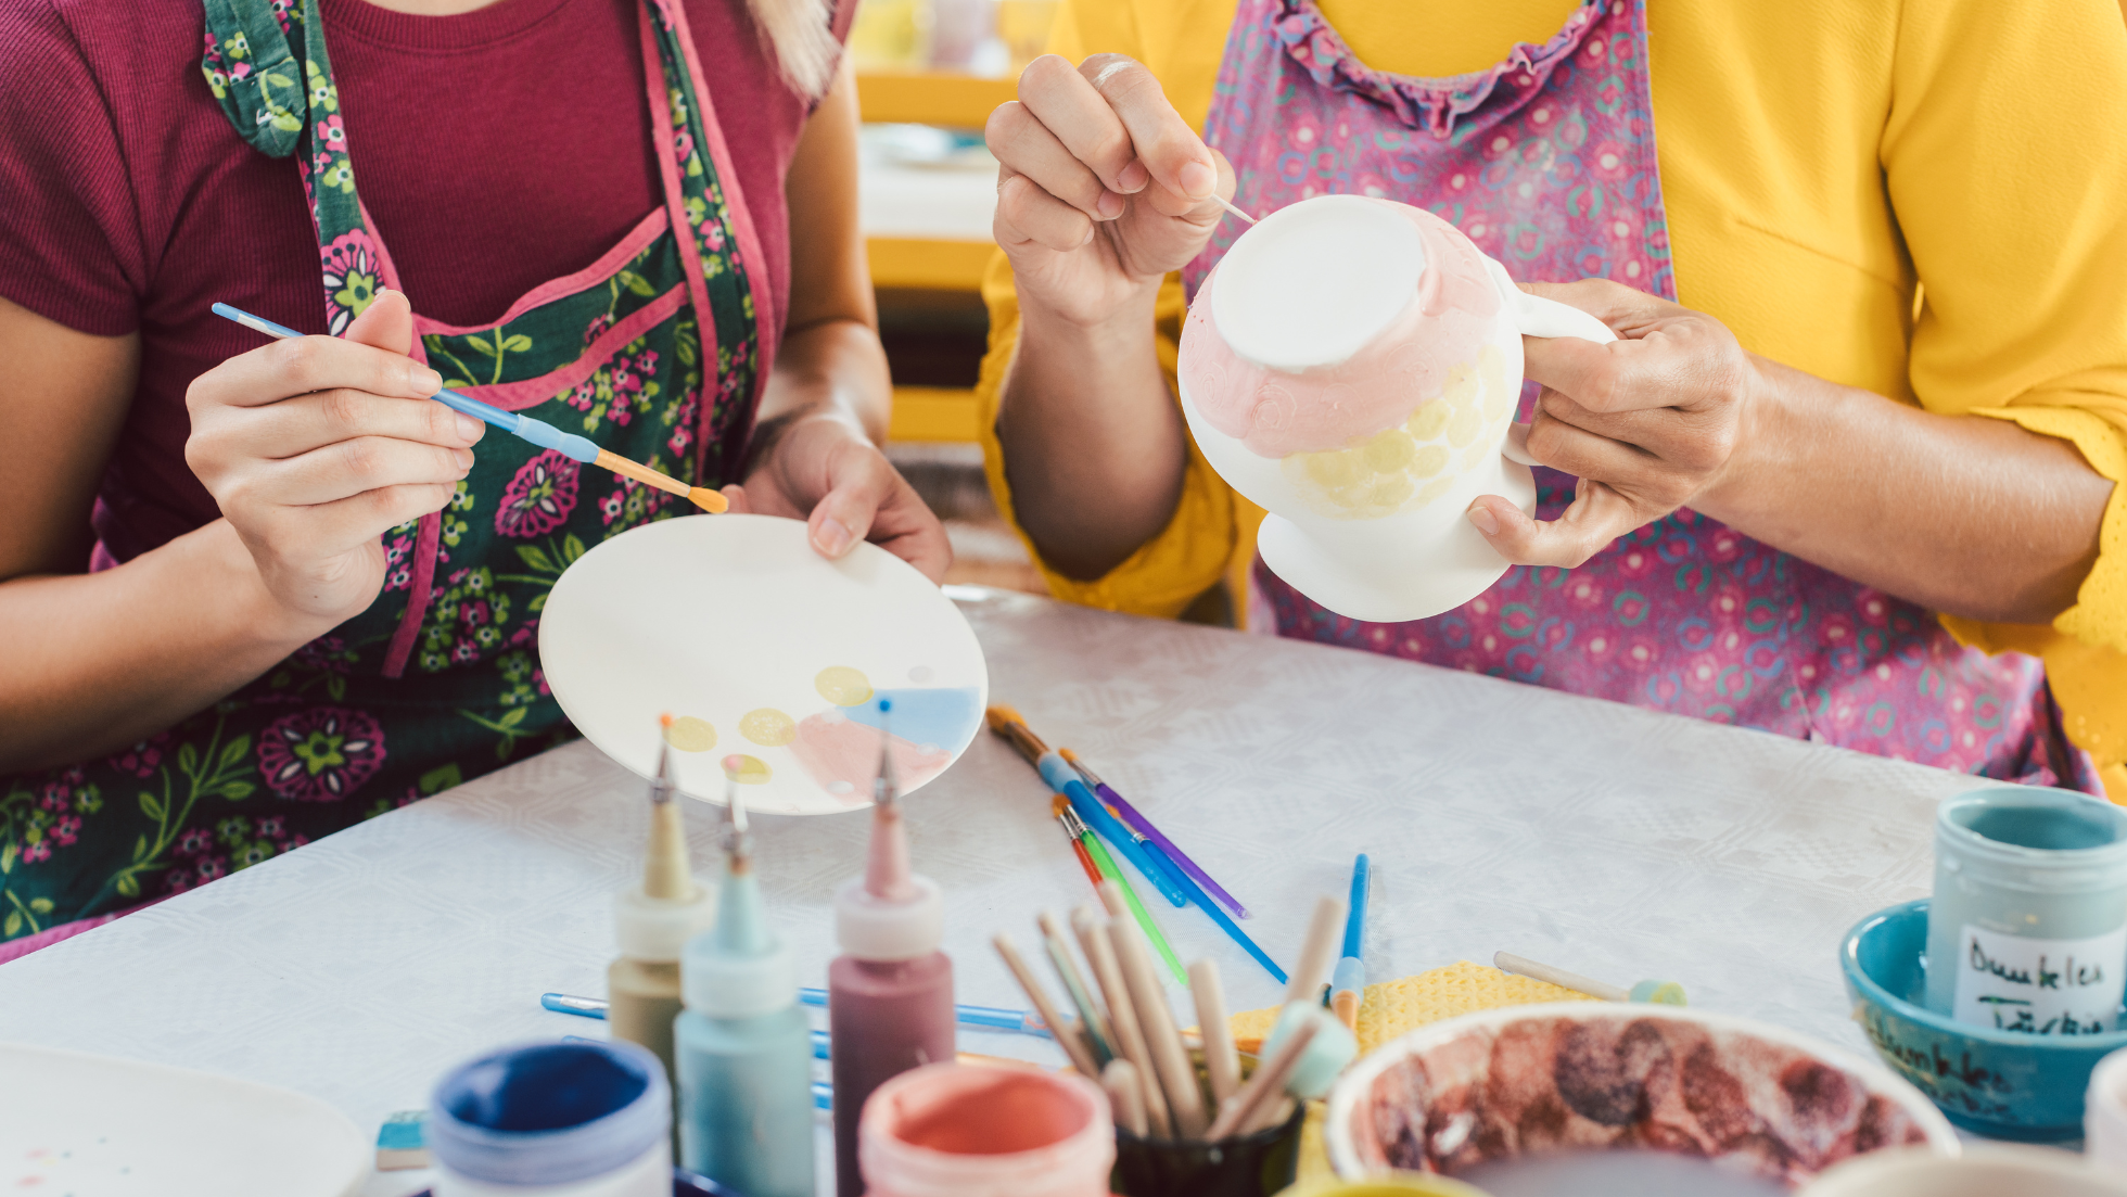
[[[672,716],[664,716],[670,727]],[[619,893],[613,931],[621,955],[606,970],[606,1023],[615,1040],[642,1044],[672,1072],[672,1021],[681,1012],[679,957],[687,940],[717,921],[717,893],[696,884],[687,859],[687,827],[672,802],[670,748],[657,751],[651,778],[651,836],[642,853],[642,884]]]

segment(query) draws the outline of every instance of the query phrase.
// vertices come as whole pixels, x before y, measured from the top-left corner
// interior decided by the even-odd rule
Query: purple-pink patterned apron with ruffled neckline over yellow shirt
[[[1206,119],[1244,210],[1321,193],[1419,204],[1517,279],[1612,279],[1676,298],[1644,0],[1589,0],[1544,45],[1451,79],[1353,57],[1312,0],[1240,0]],[[1198,283],[1238,236],[1189,264]],[[1538,387],[1523,389],[1523,419]],[[1574,478],[1536,470],[1538,519]],[[1485,672],[1946,770],[2104,793],[2042,665],[1963,648],[1919,606],[1676,510],[1576,570],[1508,570],[1412,623],[1323,610],[1255,561],[1283,636]]]

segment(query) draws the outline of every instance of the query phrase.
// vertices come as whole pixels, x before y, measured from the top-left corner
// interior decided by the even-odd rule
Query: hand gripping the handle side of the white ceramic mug
[[[1529,457],[1580,487],[1546,523],[1497,495],[1478,498],[1468,515],[1508,561],[1570,570],[1719,485],[1768,383],[1704,313],[1602,279],[1523,289],[1595,315],[1619,340],[1523,338],[1525,372],[1544,387]]]

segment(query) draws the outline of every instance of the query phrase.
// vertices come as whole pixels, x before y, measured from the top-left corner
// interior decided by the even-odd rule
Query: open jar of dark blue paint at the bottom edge
[[[434,1197],[668,1197],[672,1093],[636,1044],[523,1044],[451,1069],[428,1108]]]

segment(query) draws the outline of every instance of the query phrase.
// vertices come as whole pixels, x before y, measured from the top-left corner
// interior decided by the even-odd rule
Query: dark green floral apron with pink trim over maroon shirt
[[[774,306],[685,11],[647,0],[638,23],[664,202],[496,323],[445,325],[411,296],[413,355],[447,387],[723,485]],[[342,334],[400,283],[355,191],[317,0],[206,0],[202,68],[251,145],[296,159]],[[0,778],[0,959],[572,736],[538,670],[547,591],[589,544],[683,504],[500,432],[474,459],[442,512],[385,534],[364,614],[123,753]]]

